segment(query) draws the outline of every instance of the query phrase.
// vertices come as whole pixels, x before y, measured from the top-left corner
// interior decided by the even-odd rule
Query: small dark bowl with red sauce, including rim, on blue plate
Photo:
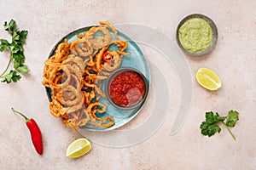
[[[106,82],[108,101],[121,110],[137,109],[148,96],[148,79],[132,67],[113,71]]]

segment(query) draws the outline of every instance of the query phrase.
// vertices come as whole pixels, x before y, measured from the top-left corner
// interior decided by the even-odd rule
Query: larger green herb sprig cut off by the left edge
[[[26,41],[27,31],[19,31],[16,28],[15,20],[10,20],[9,23],[6,21],[3,24],[4,30],[8,31],[12,36],[12,41],[9,42],[6,39],[0,39],[0,52],[9,50],[9,62],[5,70],[0,74],[0,78],[3,79],[1,82],[17,82],[21,76],[18,73],[26,74],[30,71],[27,65],[24,65],[25,55],[23,51],[23,44]],[[9,71],[11,62],[14,61],[14,69]],[[7,73],[9,71],[9,73]]]

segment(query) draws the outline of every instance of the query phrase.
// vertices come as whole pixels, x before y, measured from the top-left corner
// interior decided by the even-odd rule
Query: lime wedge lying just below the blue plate
[[[81,138],[74,140],[68,145],[66,156],[69,158],[77,158],[79,156],[84,156],[91,149],[91,144],[88,139]]]

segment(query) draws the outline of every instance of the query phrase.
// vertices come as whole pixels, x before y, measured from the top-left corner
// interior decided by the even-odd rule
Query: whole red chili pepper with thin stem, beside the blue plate
[[[32,143],[34,144],[34,147],[37,150],[38,154],[42,155],[43,154],[43,139],[42,139],[42,134],[38,127],[37,122],[35,122],[32,118],[27,118],[19,111],[15,111],[14,108],[12,108],[12,111],[19,114],[20,116],[23,116],[26,119],[26,126],[28,127],[28,129],[31,133]]]

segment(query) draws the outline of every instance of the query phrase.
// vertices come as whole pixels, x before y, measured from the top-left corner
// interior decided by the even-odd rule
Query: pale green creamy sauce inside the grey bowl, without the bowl
[[[212,28],[206,20],[190,19],[178,30],[179,41],[191,53],[207,50],[212,43]]]

